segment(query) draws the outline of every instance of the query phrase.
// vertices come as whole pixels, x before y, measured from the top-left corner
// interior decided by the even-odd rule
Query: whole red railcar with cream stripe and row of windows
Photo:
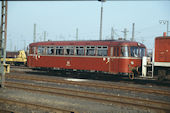
[[[126,40],[48,41],[29,45],[27,64],[33,68],[138,72],[146,47]]]

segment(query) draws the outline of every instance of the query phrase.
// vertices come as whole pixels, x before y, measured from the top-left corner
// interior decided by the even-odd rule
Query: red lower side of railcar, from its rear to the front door
[[[62,57],[62,56],[37,56],[29,57],[30,67],[54,67],[64,69],[96,70],[108,72],[109,64],[106,57]]]

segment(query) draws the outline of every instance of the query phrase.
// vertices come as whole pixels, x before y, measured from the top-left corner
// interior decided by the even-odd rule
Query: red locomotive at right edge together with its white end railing
[[[152,61],[147,57],[143,59],[142,76],[150,76],[164,80],[170,75],[170,36],[160,36],[155,38],[155,49],[152,54]]]

